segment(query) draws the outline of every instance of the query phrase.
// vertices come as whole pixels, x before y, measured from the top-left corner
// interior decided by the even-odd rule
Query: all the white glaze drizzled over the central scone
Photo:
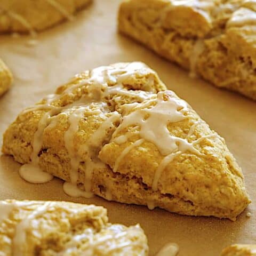
[[[33,151],[33,156],[31,157],[32,163],[35,162],[38,164],[39,162],[38,150],[40,150],[42,147],[42,133],[45,127],[49,125],[50,122],[52,121],[53,119],[52,116],[54,114],[59,114],[61,112],[63,113],[65,112],[65,110],[68,110],[76,106],[75,108],[76,110],[73,111],[74,116],[72,116],[71,114],[71,116],[69,117],[70,118],[69,121],[71,121],[72,124],[70,125],[70,128],[67,131],[67,133],[65,134],[65,137],[66,137],[65,144],[69,152],[70,162],[72,162],[70,164],[72,166],[70,177],[73,175],[72,183],[74,185],[77,181],[79,162],[81,161],[81,159],[83,159],[84,161],[84,157],[82,156],[86,153],[87,155],[86,156],[87,159],[85,159],[85,163],[86,163],[86,173],[85,173],[86,179],[85,180],[86,181],[85,181],[84,187],[85,187],[86,193],[91,193],[91,189],[92,189],[91,179],[92,179],[93,169],[95,167],[102,167],[102,163],[97,161],[94,162],[94,159],[93,159],[94,156],[89,154],[91,151],[90,147],[97,148],[101,145],[102,139],[105,138],[104,131],[106,131],[106,129],[110,124],[109,120],[103,123],[101,127],[98,129],[98,131],[92,134],[91,138],[86,141],[85,145],[82,145],[77,150],[77,155],[74,155],[75,150],[74,150],[74,144],[72,142],[73,141],[72,138],[74,138],[74,134],[78,130],[78,123],[82,117],[82,113],[84,110],[83,109],[84,106],[81,106],[81,103],[88,104],[92,101],[94,102],[95,101],[97,102],[97,100],[102,101],[104,98],[109,97],[111,94],[116,94],[116,93],[118,93],[118,95],[122,94],[129,97],[137,97],[137,100],[142,101],[143,103],[141,104],[140,107],[138,107],[136,111],[132,111],[130,114],[129,112],[132,110],[133,107],[136,107],[138,103],[135,102],[135,103],[122,106],[122,110],[125,116],[123,118],[123,122],[121,123],[121,125],[119,125],[119,127],[114,132],[111,141],[115,141],[121,144],[126,142],[134,134],[139,134],[141,139],[139,139],[138,141],[135,141],[128,148],[124,149],[123,153],[118,157],[115,163],[114,171],[118,169],[118,166],[121,163],[123,157],[125,157],[125,155],[129,153],[129,151],[132,148],[141,145],[144,141],[152,142],[157,146],[160,153],[163,156],[165,156],[162,163],[159,164],[158,170],[155,173],[155,177],[153,181],[153,189],[156,190],[158,180],[161,177],[162,171],[164,170],[165,166],[169,164],[172,161],[172,159],[174,159],[175,156],[185,152],[186,150],[191,151],[191,153],[193,154],[202,155],[197,149],[194,148],[195,144],[199,143],[205,138],[208,138],[208,136],[212,137],[213,134],[202,137],[201,139],[194,141],[193,143],[189,143],[186,139],[181,139],[181,138],[170,135],[170,132],[167,129],[167,124],[179,122],[185,118],[189,118],[189,116],[184,115],[190,109],[189,105],[185,101],[175,98],[175,95],[171,91],[160,92],[157,95],[157,99],[154,99],[155,97],[154,94],[150,94],[146,92],[137,94],[122,88],[121,82],[123,82],[122,80],[123,77],[127,75],[126,73],[130,75],[134,75],[134,73],[137,73],[137,68],[141,69],[139,70],[141,74],[148,72],[145,66],[143,66],[141,63],[130,64],[123,68],[114,68],[113,66],[112,67],[110,66],[110,67],[100,67],[100,68],[94,69],[91,72],[90,78],[85,79],[82,83],[70,86],[68,89],[62,92],[62,94],[51,94],[45,98],[44,104],[36,105],[33,108],[27,109],[27,111],[37,110],[37,109],[50,109],[50,111],[43,116],[43,118],[38,124],[38,130],[35,133],[35,138],[34,138],[35,147],[33,147],[34,151]],[[121,81],[121,82],[118,82],[118,81]],[[108,86],[108,83],[113,83],[114,85],[115,84],[116,85]],[[90,86],[88,87],[89,93],[87,97],[83,99],[81,98],[80,100],[66,107],[51,106],[51,103],[54,100],[60,99],[61,95],[67,94],[67,93],[68,94],[73,93],[73,90],[75,90],[79,86],[82,86],[83,84],[90,84]],[[169,98],[169,100],[164,100],[164,95],[165,97]],[[152,102],[155,102],[155,105],[153,107],[150,106]],[[78,111],[78,115],[76,111]],[[120,115],[118,113],[114,115],[114,119],[116,118],[120,119]],[[121,131],[122,129],[130,125],[140,127],[140,131],[128,132],[126,135],[121,135],[119,137],[116,136],[116,134],[119,131]],[[134,128],[135,127],[133,127],[132,129]],[[40,138],[41,140],[37,138]],[[97,143],[94,143],[95,141]],[[69,188],[71,187],[69,186]],[[72,194],[70,193],[70,191],[67,193]],[[73,193],[73,194],[76,194],[76,193]],[[110,199],[112,196],[110,193],[110,189],[108,188],[107,188],[107,194],[108,195],[106,196]]]

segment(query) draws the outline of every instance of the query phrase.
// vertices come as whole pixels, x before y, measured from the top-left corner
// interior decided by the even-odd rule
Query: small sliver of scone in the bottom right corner
[[[255,244],[233,244],[221,252],[221,256],[256,256]]]

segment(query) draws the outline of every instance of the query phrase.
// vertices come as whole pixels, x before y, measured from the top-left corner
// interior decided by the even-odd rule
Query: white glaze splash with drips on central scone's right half
[[[167,100],[165,100],[164,97],[167,97]],[[114,132],[112,141],[126,142],[128,138],[124,138],[125,135],[121,135],[122,137],[119,138],[118,133],[130,126],[139,126],[139,135],[141,139],[130,144],[123,150],[121,155],[116,159],[113,171],[118,171],[119,164],[131,149],[141,145],[144,141],[149,141],[153,143],[164,156],[154,175],[152,189],[155,191],[157,190],[158,181],[161,178],[165,167],[170,164],[175,157],[186,151],[190,151],[190,153],[195,155],[204,156],[195,148],[195,145],[204,139],[216,137],[216,134],[204,135],[193,142],[188,142],[188,138],[182,139],[175,137],[170,134],[167,125],[189,118],[189,116],[186,116],[185,114],[189,111],[190,107],[185,101],[175,98],[171,91],[159,92],[157,94],[157,99],[151,99],[149,102],[155,102],[156,104],[151,108],[143,108],[145,107],[144,104],[147,104],[148,107],[148,102],[142,103],[140,108],[135,109],[130,114],[128,113],[123,117],[123,122]],[[197,121],[190,127],[188,132],[189,137],[193,134],[196,125],[199,123],[201,123],[201,121]],[[148,205],[150,205],[151,209],[154,208],[153,202],[148,202]]]

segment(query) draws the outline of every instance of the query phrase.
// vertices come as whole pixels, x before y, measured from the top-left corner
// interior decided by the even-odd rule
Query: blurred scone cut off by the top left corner
[[[0,33],[30,33],[44,30],[73,14],[92,0],[2,0]]]

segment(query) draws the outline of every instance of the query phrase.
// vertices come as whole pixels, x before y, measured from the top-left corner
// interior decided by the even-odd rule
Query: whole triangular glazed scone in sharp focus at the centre
[[[22,111],[2,150],[21,177],[50,173],[70,195],[231,220],[250,203],[225,141],[141,62],[77,75]]]

